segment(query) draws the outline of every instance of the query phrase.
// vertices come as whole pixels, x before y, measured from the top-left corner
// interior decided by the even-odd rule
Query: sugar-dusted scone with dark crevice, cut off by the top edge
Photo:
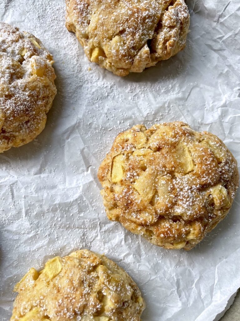
[[[184,0],[66,0],[66,27],[88,59],[118,76],[140,73],[185,47]]]

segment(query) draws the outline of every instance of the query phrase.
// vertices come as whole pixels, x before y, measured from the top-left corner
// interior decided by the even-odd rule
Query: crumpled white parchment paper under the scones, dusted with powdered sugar
[[[88,62],[63,0],[1,0],[0,20],[54,55],[57,96],[37,139],[0,154],[1,320],[32,266],[79,248],[105,253],[137,282],[143,321],[212,321],[240,287],[240,195],[193,250],[170,251],[111,222],[97,170],[116,134],[182,120],[218,135],[240,164],[239,0],[189,0],[185,50],[125,78]],[[92,70],[88,70],[88,67]]]

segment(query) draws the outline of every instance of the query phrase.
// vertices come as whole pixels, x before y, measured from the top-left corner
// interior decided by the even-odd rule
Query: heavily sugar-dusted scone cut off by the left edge
[[[39,39],[0,22],[0,152],[44,129],[56,95],[53,62]]]

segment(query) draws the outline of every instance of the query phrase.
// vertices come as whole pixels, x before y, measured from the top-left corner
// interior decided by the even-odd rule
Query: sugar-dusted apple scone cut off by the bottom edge
[[[116,263],[89,250],[31,268],[14,288],[10,321],[140,321],[145,302]]]

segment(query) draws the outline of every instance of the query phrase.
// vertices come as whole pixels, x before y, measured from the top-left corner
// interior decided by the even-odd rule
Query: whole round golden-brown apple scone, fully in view
[[[107,216],[167,249],[191,249],[228,213],[237,163],[215,135],[182,122],[119,134],[98,178]]]

